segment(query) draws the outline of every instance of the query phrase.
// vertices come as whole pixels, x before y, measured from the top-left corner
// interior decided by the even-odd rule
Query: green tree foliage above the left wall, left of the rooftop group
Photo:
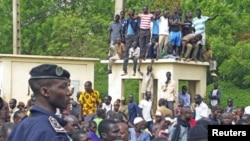
[[[107,29],[113,19],[112,0],[20,0],[20,3],[22,54],[105,56]],[[11,53],[12,3],[2,0],[0,7],[4,19],[0,51]]]

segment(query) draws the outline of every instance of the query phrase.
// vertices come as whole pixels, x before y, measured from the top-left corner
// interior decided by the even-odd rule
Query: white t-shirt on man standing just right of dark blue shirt
[[[152,100],[147,101],[146,99],[141,100],[139,107],[142,109],[142,117],[146,122],[152,121],[151,108]]]

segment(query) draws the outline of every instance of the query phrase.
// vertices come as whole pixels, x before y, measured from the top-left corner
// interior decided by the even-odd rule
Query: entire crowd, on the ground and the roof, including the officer
[[[184,61],[210,62],[210,70],[216,76],[216,61],[210,45],[205,45],[205,22],[213,18],[201,16],[192,19],[187,12],[182,20],[182,10],[175,7],[163,14],[157,9],[125,18],[122,11],[110,24],[110,52],[108,73],[112,63],[124,59],[122,74],[127,75],[127,64],[133,59],[133,75],[138,71],[143,78],[142,99],[134,101],[135,94],[112,100],[103,99],[91,81],[84,83],[84,90],[72,98],[70,73],[54,64],[42,64],[30,71],[29,86],[33,91],[25,105],[12,98],[7,103],[0,98],[0,136],[2,141],[204,141],[208,140],[208,125],[250,125],[250,106],[235,107],[233,99],[227,99],[227,107],[221,107],[222,92],[214,84],[206,101],[200,94],[193,97],[188,87],[175,92],[171,72],[166,72],[161,94],[152,89],[152,63],[147,73],[140,70],[142,59],[174,58]],[[162,54],[162,52],[166,51]],[[203,57],[202,57],[203,54]],[[139,65],[137,68],[137,61]],[[144,84],[145,83],[145,84]],[[153,103],[157,99],[157,105]],[[193,99],[192,99],[193,98]],[[174,105],[177,104],[177,107]],[[156,106],[156,110],[154,109]]]

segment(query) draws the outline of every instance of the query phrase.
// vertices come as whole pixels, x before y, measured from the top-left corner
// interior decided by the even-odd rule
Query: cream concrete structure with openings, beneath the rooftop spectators
[[[101,60],[101,63],[107,64],[108,60]],[[138,73],[136,76],[132,76],[132,60],[128,64],[128,75],[121,76],[123,60],[117,60],[113,64],[112,74],[109,74],[109,94],[112,96],[113,100],[120,99],[124,95],[123,91],[123,80],[125,79],[139,79],[142,80],[142,76]],[[150,65],[150,60],[142,62],[141,71],[146,73],[146,67]],[[153,64],[153,73],[155,77],[154,84],[154,95],[159,98],[161,91],[161,85],[166,81],[166,72],[170,71],[172,73],[172,79],[176,82],[176,91],[179,92],[179,81],[188,80],[188,91],[191,95],[196,93],[205,96],[206,94],[206,80],[207,80],[207,62],[184,62],[176,61],[172,59],[160,59],[155,61]],[[140,86],[140,84],[139,84]],[[139,90],[138,90],[139,94]],[[141,98],[141,96],[139,96]],[[157,98],[157,99],[158,99]],[[192,99],[193,100],[193,99]],[[176,100],[177,101],[177,100]]]

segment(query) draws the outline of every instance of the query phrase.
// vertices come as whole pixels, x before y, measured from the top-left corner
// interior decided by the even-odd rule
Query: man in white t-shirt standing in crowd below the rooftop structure
[[[145,93],[145,99],[141,100],[139,107],[142,110],[142,117],[147,122],[148,130],[152,133],[153,128],[153,119],[151,114],[152,109],[152,100],[151,100],[151,92],[146,91]]]

